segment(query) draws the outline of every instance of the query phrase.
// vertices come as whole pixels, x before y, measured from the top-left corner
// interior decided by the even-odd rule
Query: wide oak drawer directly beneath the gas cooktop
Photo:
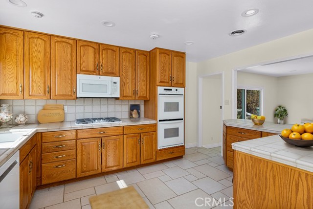
[[[123,126],[77,130],[77,139],[108,137],[123,134]]]

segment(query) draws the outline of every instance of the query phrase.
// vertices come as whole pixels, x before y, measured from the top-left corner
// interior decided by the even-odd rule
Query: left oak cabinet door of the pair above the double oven
[[[156,85],[172,86],[172,52],[156,49]]]

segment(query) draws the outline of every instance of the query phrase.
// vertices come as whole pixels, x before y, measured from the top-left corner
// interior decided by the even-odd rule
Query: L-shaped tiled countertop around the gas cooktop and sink
[[[107,123],[107,124],[85,124],[76,125],[75,121],[70,122],[56,122],[56,123],[41,123],[41,124],[26,124],[24,126],[12,126],[12,128],[0,129],[1,133],[9,132],[26,132],[22,137],[14,141],[14,143],[8,148],[0,148],[0,166],[4,164],[11,156],[13,156],[28,139],[34,136],[37,132],[48,132],[48,131],[65,131],[65,130],[77,130],[77,129],[88,129],[88,128],[102,128],[102,127],[113,127],[113,126],[128,126],[128,125],[144,125],[156,123],[156,120],[152,120],[145,117],[130,119],[122,118],[121,123]],[[3,142],[5,143],[5,142]],[[1,144],[1,142],[0,142]]]

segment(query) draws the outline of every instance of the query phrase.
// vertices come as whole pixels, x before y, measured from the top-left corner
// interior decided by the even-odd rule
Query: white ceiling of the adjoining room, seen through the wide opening
[[[274,77],[313,73],[313,56],[250,67],[240,71]]]

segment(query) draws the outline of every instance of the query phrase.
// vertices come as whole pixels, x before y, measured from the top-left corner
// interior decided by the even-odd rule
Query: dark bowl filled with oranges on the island
[[[279,135],[285,142],[299,147],[313,146],[313,123],[294,124]]]

